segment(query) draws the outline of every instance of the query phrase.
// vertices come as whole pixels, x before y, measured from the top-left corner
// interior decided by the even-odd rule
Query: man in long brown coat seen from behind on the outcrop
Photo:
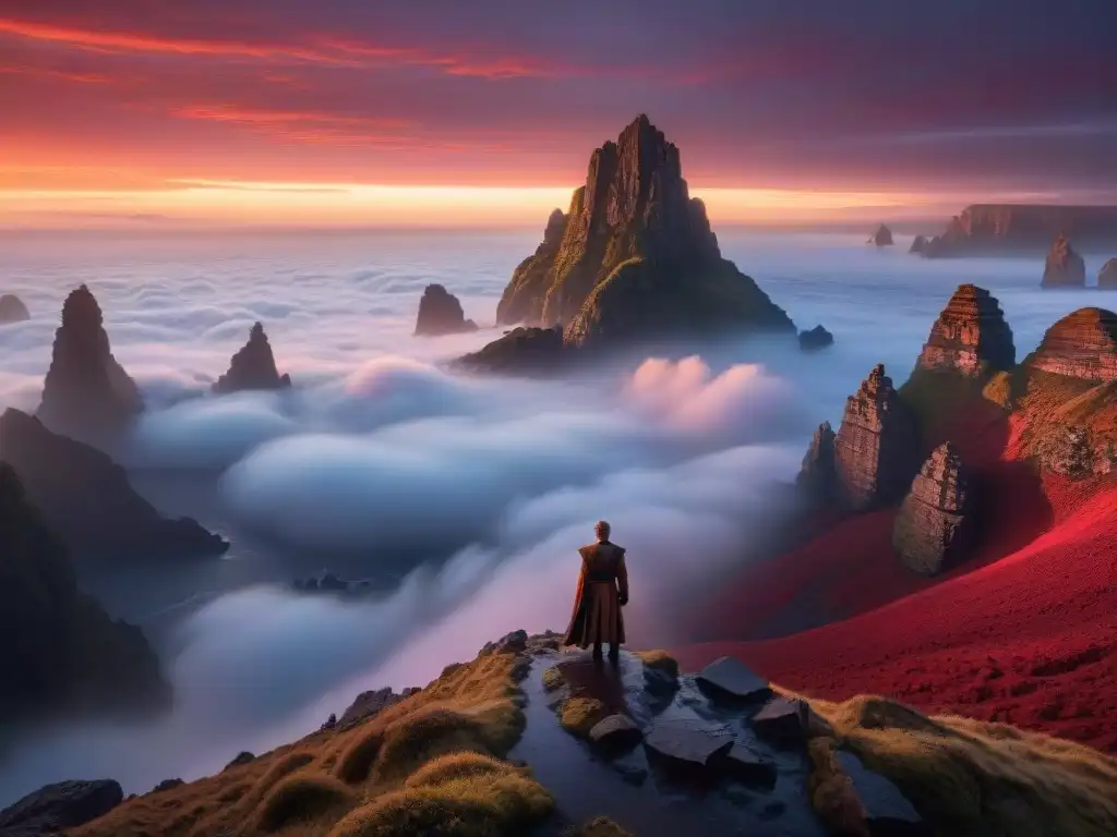
[[[579,549],[582,571],[574,594],[574,615],[566,629],[566,645],[588,648],[601,658],[601,646],[609,643],[609,660],[617,663],[624,642],[624,617],[621,607],[628,604],[628,569],[624,548],[609,540],[609,523],[594,527],[598,542]]]

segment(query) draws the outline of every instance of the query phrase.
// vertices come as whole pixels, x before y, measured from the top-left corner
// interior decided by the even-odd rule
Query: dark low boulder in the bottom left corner
[[[112,779],[47,785],[0,811],[2,837],[44,837],[92,822],[124,801]]]

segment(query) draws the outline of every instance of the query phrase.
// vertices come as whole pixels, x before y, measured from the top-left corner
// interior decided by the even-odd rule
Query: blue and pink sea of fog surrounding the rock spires
[[[663,614],[739,566],[813,429],[837,426],[877,363],[907,377],[960,282],[1001,300],[1018,356],[1098,291],[1040,291],[1034,259],[924,261],[909,241],[725,230],[725,254],[796,325],[836,345],[727,343],[563,383],[470,378],[445,362],[489,328],[540,233],[0,234],[0,407],[34,410],[66,294],[97,296],[149,410],[122,453],[165,513],[232,541],[219,560],[83,576],[155,641],[165,718],[30,730],[0,752],[0,807],[48,781],[111,777],[143,792],[315,729],[357,692],[421,685],[508,631],[562,629],[592,523],[628,547],[633,645],[685,642]],[[1102,256],[1087,259],[1095,275]],[[429,282],[474,335],[414,338]],[[1104,298],[1102,298],[1104,299]],[[1096,304],[1096,302],[1095,302]],[[1102,302],[1104,304],[1104,302]],[[204,393],[261,320],[295,388]],[[330,568],[374,596],[296,595]],[[675,608],[675,609],[672,609]]]

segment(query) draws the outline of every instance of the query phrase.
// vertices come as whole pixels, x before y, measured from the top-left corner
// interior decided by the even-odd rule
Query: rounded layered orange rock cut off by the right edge
[[[1082,381],[1111,381],[1117,377],[1117,314],[1105,308],[1068,314],[1047,330],[1024,363]]]

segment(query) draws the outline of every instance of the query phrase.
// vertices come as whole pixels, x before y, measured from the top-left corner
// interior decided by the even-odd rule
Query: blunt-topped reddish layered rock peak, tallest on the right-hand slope
[[[930,327],[916,368],[981,377],[1015,363],[1012,329],[996,298],[976,285],[960,285]]]

